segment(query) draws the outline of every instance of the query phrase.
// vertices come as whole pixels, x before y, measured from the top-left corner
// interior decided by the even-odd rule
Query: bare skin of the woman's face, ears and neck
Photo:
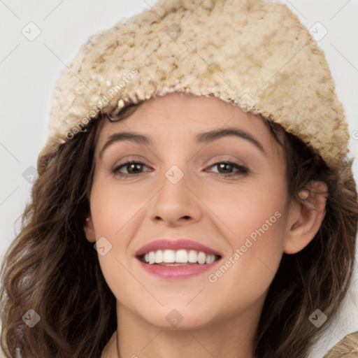
[[[223,127],[248,132],[265,153],[236,136],[195,142],[196,134]],[[100,158],[108,136],[119,131],[150,136],[153,143],[115,142]],[[120,122],[106,120],[94,156],[84,229],[88,241],[104,236],[112,245],[99,263],[117,299],[118,322],[101,358],[253,357],[252,339],[283,252],[302,250],[324,218],[324,200],[308,192],[301,193],[303,203],[288,205],[285,156],[264,120],[215,97],[166,94]],[[134,168],[137,175],[128,174],[130,165],[120,170],[128,178],[111,173],[131,159],[145,164]],[[248,172],[220,169],[224,160]],[[175,185],[165,176],[173,165],[184,175]],[[275,213],[280,218],[210,282],[208,275],[232,262],[235,250]],[[222,252],[220,264],[187,280],[165,281],[141,268],[136,250],[180,236]],[[182,317],[176,327],[166,320],[173,309]]]

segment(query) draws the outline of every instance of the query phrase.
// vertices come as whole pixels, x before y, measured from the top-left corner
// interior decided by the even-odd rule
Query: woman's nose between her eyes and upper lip
[[[179,174],[178,167],[174,171],[166,172],[150,210],[151,219],[167,227],[193,224],[200,220],[202,215],[200,200],[187,175],[183,175],[178,182],[173,180]]]

